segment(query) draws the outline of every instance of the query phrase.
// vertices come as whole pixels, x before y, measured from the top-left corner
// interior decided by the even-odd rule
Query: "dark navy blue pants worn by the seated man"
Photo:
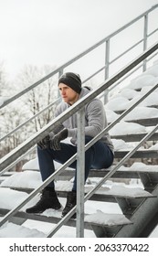
[[[85,137],[85,144],[88,144],[92,138],[90,136]],[[54,162],[57,161],[60,164],[64,164],[68,159],[77,153],[77,146],[72,144],[61,143],[61,150],[53,150],[50,148],[40,149],[37,146],[37,156],[39,169],[42,176],[42,180],[45,181],[48,176],[55,172]],[[98,141],[93,144],[85,152],[85,181],[89,176],[90,169],[108,168],[113,163],[113,154],[110,148]],[[77,161],[74,161],[69,167],[75,169],[75,178],[72,190],[77,189]],[[54,181],[48,184],[47,187],[54,187]]]

